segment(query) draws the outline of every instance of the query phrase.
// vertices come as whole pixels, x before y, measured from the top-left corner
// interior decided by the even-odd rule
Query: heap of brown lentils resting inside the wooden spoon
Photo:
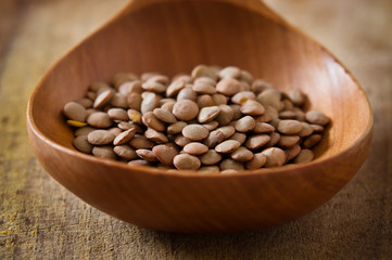
[[[303,110],[306,96],[282,93],[235,66],[199,65],[170,80],[119,73],[64,106],[74,146],[130,166],[235,172],[314,159],[330,119]]]

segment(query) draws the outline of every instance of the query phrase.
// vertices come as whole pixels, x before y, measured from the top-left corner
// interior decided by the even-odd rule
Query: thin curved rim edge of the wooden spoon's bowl
[[[229,3],[229,2],[226,2],[226,3],[233,4],[233,3]],[[239,6],[237,4],[236,4],[236,6],[245,9],[244,6]],[[126,8],[127,8],[127,5],[126,5]],[[269,9],[268,6],[265,6],[265,8]],[[138,11],[138,10],[136,10],[136,11]],[[315,160],[312,160],[309,162],[290,164],[290,165],[283,165],[281,167],[261,168],[261,169],[256,169],[256,170],[241,170],[241,171],[238,171],[237,173],[222,174],[220,171],[203,172],[203,171],[199,171],[199,170],[197,170],[197,171],[195,170],[177,170],[175,168],[160,169],[160,168],[150,167],[150,166],[129,166],[122,161],[111,160],[111,159],[105,159],[105,158],[97,158],[90,154],[84,154],[77,150],[67,148],[67,147],[52,141],[51,139],[47,138],[46,134],[43,134],[39,130],[39,127],[37,127],[35,120],[34,120],[34,116],[33,116],[33,108],[34,108],[33,104],[34,104],[34,101],[36,100],[37,93],[42,88],[45,80],[59,66],[59,64],[65,60],[66,56],[72,54],[76,49],[78,49],[81,44],[84,44],[88,39],[96,36],[100,30],[112,25],[114,22],[117,21],[117,18],[124,18],[126,15],[130,14],[129,12],[124,12],[124,10],[121,10],[116,15],[114,15],[112,18],[110,18],[104,25],[96,28],[92,32],[90,32],[84,39],[81,39],[77,44],[75,44],[73,48],[68,49],[65,53],[60,55],[60,57],[45,72],[45,74],[40,77],[38,83],[35,86],[35,88],[28,99],[27,109],[26,109],[27,128],[31,131],[31,133],[34,135],[39,138],[42,142],[47,143],[49,146],[60,151],[61,153],[65,153],[69,156],[76,157],[77,159],[87,160],[91,164],[97,164],[97,165],[102,165],[102,166],[105,165],[105,166],[116,167],[124,171],[129,171],[131,173],[142,173],[142,174],[151,174],[151,176],[160,176],[160,177],[167,176],[167,177],[177,177],[177,178],[216,178],[216,177],[218,177],[218,178],[237,178],[237,177],[250,177],[250,176],[258,176],[258,174],[266,174],[266,176],[277,174],[277,173],[290,174],[290,173],[295,173],[299,170],[300,171],[311,170],[311,168],[313,168],[315,166],[321,166],[321,165],[329,164],[333,160],[337,160],[342,155],[349,153],[353,147],[363,143],[366,140],[366,138],[371,135],[372,129],[374,129],[374,114],[372,114],[369,99],[368,99],[365,90],[359,84],[359,82],[356,80],[356,78],[353,76],[353,74],[342,64],[342,62],[339,58],[337,58],[327,48],[325,48],[323,44],[320,44],[317,40],[313,39],[307,34],[303,32],[301,29],[291,25],[282,17],[267,16],[262,13],[257,13],[254,10],[249,10],[249,9],[246,9],[246,11],[254,12],[257,15],[263,15],[264,18],[269,20],[273,23],[286,26],[286,27],[288,27],[288,29],[293,30],[294,32],[299,34],[300,36],[306,38],[306,40],[313,41],[313,43],[319,46],[321,51],[324,51],[327,55],[329,55],[337,63],[338,66],[343,68],[344,73],[349,76],[349,78],[356,86],[356,88],[357,88],[356,90],[362,92],[363,96],[365,98],[366,108],[369,113],[369,120],[368,120],[368,123],[367,123],[365,130],[362,131],[347,147],[339,151],[338,153],[336,153],[332,156],[328,156],[326,158],[316,158]],[[269,10],[269,11],[271,13],[274,13],[274,11],[271,11],[271,10]],[[64,121],[64,123],[65,123],[65,121]],[[29,136],[29,140],[31,143],[33,136]]]

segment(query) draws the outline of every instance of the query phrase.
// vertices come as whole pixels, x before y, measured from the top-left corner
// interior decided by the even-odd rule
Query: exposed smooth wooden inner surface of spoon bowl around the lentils
[[[173,12],[175,10],[176,12]],[[75,150],[61,110],[89,83],[117,72],[190,73],[198,64],[235,65],[280,90],[300,89],[309,108],[332,123],[318,159],[349,148],[369,128],[371,113],[350,73],[318,43],[284,23],[224,2],[164,2],[114,20],[65,55],[31,99],[36,128]]]

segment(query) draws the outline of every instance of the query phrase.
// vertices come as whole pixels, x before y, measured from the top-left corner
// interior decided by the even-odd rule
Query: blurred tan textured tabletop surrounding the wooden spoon
[[[370,155],[313,213],[251,233],[150,231],[86,205],[28,144],[26,103],[43,72],[127,0],[0,0],[0,259],[392,259],[392,1],[267,0],[332,51],[375,112]]]

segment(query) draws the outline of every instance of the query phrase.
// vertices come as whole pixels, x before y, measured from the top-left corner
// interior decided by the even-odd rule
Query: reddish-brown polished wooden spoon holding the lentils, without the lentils
[[[62,116],[90,82],[117,72],[190,73],[235,65],[282,91],[296,88],[331,118],[308,164],[220,176],[129,167],[77,152]],[[56,62],[28,104],[28,134],[45,169],[93,207],[170,232],[263,229],[300,218],[331,198],[369,150],[372,114],[347,69],[258,0],[134,0]]]

